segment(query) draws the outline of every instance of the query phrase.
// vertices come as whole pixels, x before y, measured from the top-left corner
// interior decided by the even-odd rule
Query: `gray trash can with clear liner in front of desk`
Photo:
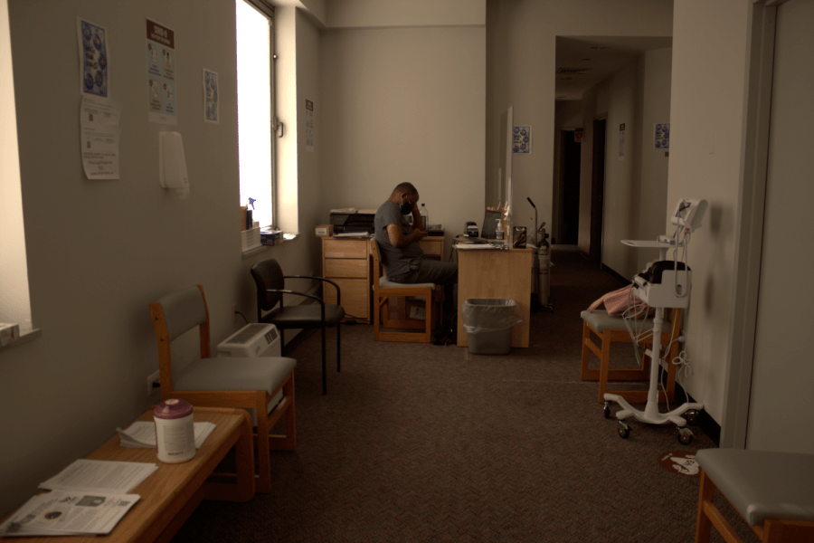
[[[469,352],[506,355],[512,349],[512,327],[524,322],[515,300],[469,298],[461,304],[463,331],[469,334]]]

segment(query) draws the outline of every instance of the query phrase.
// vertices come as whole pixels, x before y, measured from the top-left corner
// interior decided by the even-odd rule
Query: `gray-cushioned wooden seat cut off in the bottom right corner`
[[[702,449],[696,543],[708,543],[713,526],[729,543],[741,543],[715,507],[717,488],[761,541],[814,541],[814,454]]]

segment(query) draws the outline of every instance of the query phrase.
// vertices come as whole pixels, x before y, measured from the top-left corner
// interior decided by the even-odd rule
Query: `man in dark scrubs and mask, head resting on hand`
[[[396,186],[390,198],[376,210],[375,239],[390,281],[443,285],[442,335],[436,343],[446,344],[452,339],[453,291],[458,283],[458,264],[424,258],[419,242],[427,235],[427,225],[421,223],[418,201],[418,190],[412,183]],[[412,227],[404,216],[408,214],[412,214]]]

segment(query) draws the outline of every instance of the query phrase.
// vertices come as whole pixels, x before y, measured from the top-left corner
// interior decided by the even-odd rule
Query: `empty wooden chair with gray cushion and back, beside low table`
[[[209,310],[202,285],[173,292],[151,303],[150,314],[158,341],[161,399],[180,398],[192,405],[240,407],[250,411],[256,421],[256,488],[258,492],[270,492],[270,450],[297,448],[294,415],[297,361],[288,357],[212,357]],[[201,357],[173,371],[170,344],[196,326],[200,329]],[[283,414],[286,433],[271,435],[271,429]]]

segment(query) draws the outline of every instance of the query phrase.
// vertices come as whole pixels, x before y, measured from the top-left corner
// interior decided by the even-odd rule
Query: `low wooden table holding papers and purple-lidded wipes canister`
[[[153,420],[153,410],[150,409],[137,420]],[[168,541],[204,498],[251,500],[254,496],[254,452],[249,414],[241,409],[194,407],[194,420],[217,424],[217,428],[206,438],[204,445],[195,452],[194,458],[189,462],[177,464],[159,462],[155,449],[119,446],[118,434],[88,455],[92,460],[158,464],[156,472],[130,491],[141,496],[141,500],[137,501],[133,509],[128,511],[109,535],[19,538],[19,540],[24,543]],[[207,477],[233,446],[236,452],[237,484],[207,482]]]

